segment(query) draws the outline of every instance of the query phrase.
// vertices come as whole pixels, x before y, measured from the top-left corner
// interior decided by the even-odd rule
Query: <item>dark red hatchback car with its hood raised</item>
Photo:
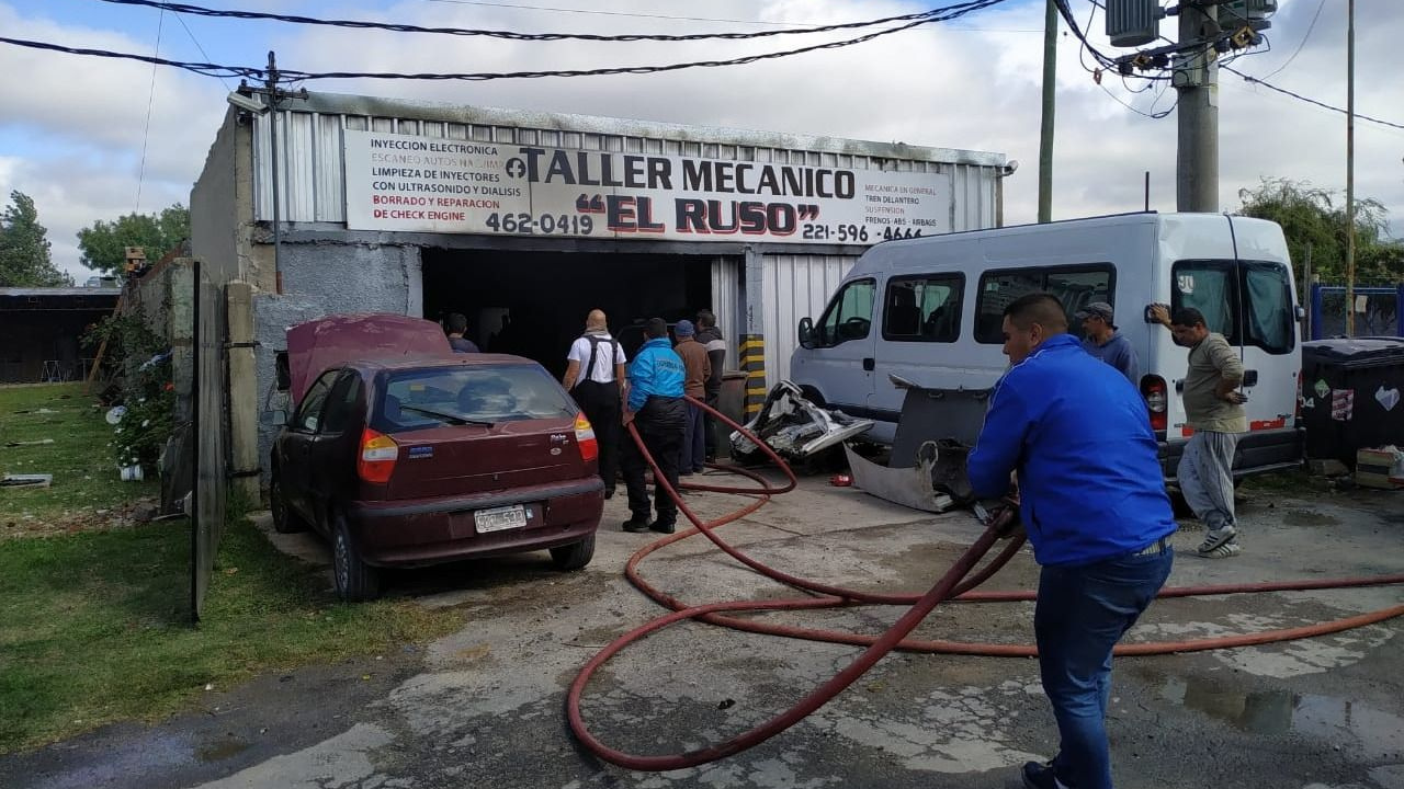
[[[416,319],[317,323],[379,319],[442,343],[435,324]],[[343,598],[376,597],[380,567],[542,549],[562,570],[590,563],[604,510],[594,431],[545,368],[423,355],[414,341],[399,343],[410,357],[337,362],[354,354],[354,331],[336,334],[350,347],[312,343],[295,354],[298,329],[293,394],[306,393],[274,444],[270,507],[279,532],[310,525],[329,539]]]

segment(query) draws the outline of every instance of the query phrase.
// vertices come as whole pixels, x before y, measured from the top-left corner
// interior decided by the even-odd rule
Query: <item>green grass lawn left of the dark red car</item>
[[[28,407],[59,413],[13,414]],[[25,462],[13,470],[52,470],[55,487],[0,493],[0,529],[17,510],[53,518],[153,491],[150,483],[117,480],[105,452],[108,428],[79,389],[0,387],[0,442],[17,439],[10,425],[20,417],[27,435],[42,428],[56,441],[17,455],[44,466]],[[319,570],[278,553],[244,519],[225,531],[198,628],[190,623],[185,519],[0,533],[11,533],[0,536],[0,752],[112,720],[168,715],[208,682],[229,688],[256,674],[388,651],[462,625],[458,611],[404,599],[340,604]]]

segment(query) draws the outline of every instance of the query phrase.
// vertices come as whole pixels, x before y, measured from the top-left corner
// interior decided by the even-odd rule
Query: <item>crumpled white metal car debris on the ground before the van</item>
[[[799,386],[782,380],[771,389],[761,413],[746,423],[746,430],[760,437],[786,460],[804,460],[816,452],[861,435],[872,420],[851,417],[838,410],[820,409],[804,399]],[[751,459],[760,453],[750,438],[731,432],[731,456]]]

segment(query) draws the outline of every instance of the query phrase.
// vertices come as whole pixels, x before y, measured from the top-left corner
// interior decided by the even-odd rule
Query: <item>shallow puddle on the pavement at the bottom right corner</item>
[[[1351,699],[1289,691],[1245,694],[1179,678],[1167,679],[1161,696],[1254,734],[1304,734],[1375,760],[1404,752],[1404,717]]]

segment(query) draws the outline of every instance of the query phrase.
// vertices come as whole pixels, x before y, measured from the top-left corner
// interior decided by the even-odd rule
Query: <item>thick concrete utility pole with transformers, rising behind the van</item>
[[[1219,8],[1205,0],[1179,7],[1179,41],[1195,41],[1219,29]],[[1219,211],[1219,60],[1209,45],[1179,56],[1175,119],[1179,140],[1175,156],[1175,209]]]

